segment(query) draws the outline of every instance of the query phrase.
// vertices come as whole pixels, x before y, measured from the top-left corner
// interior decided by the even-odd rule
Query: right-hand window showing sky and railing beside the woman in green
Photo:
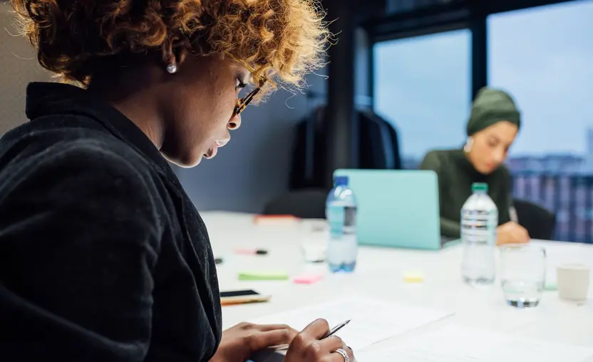
[[[557,214],[557,237],[593,240],[593,1],[488,17],[488,83],[508,90],[522,130],[508,160],[515,196]],[[588,190],[586,190],[588,188]]]

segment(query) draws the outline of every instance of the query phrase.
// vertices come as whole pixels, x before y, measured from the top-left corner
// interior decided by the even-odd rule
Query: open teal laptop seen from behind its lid
[[[359,244],[438,250],[453,240],[440,237],[437,175],[429,170],[336,170],[348,176],[358,202]]]

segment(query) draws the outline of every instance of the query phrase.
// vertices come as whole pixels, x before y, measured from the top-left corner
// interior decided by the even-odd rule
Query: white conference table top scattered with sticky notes
[[[304,242],[325,242],[324,233],[311,232],[311,222],[258,226],[253,222],[252,214],[200,214],[207,225],[215,256],[224,259],[222,264],[217,265],[220,289],[254,289],[272,295],[271,301],[267,303],[223,307],[222,321],[225,328],[241,321],[252,321],[308,304],[362,295],[455,313],[449,318],[382,341],[371,348],[381,348],[386,343],[403,343],[415,333],[423,333],[443,324],[461,324],[490,331],[516,333],[540,341],[593,347],[593,285],[589,289],[589,301],[581,306],[561,301],[557,291],[545,291],[539,306],[514,309],[505,304],[499,283],[474,289],[461,282],[460,246],[434,252],[360,247],[353,274],[330,274],[326,271],[325,264],[304,262],[301,249]],[[560,262],[593,263],[593,245],[542,241],[533,243],[546,246],[550,277],[555,274],[554,265]],[[234,249],[240,247],[267,249],[269,254],[234,254]],[[294,284],[292,281],[239,281],[237,274],[245,270],[287,271],[291,276],[320,271],[325,273],[325,277],[311,285]],[[424,276],[423,283],[404,282],[403,273],[408,271],[421,272]]]

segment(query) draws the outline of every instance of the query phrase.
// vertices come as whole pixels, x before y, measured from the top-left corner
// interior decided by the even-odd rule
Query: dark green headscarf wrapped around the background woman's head
[[[511,96],[498,89],[480,89],[473,101],[467,128],[468,136],[501,120],[515,124],[517,128],[521,127],[521,113]]]

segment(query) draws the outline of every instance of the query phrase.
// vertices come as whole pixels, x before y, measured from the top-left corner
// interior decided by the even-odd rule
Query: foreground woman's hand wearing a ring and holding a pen
[[[317,319],[306,326],[290,343],[284,362],[344,362],[345,358],[336,350],[341,348],[355,362],[354,354],[338,336],[320,339],[329,331],[324,319]]]

